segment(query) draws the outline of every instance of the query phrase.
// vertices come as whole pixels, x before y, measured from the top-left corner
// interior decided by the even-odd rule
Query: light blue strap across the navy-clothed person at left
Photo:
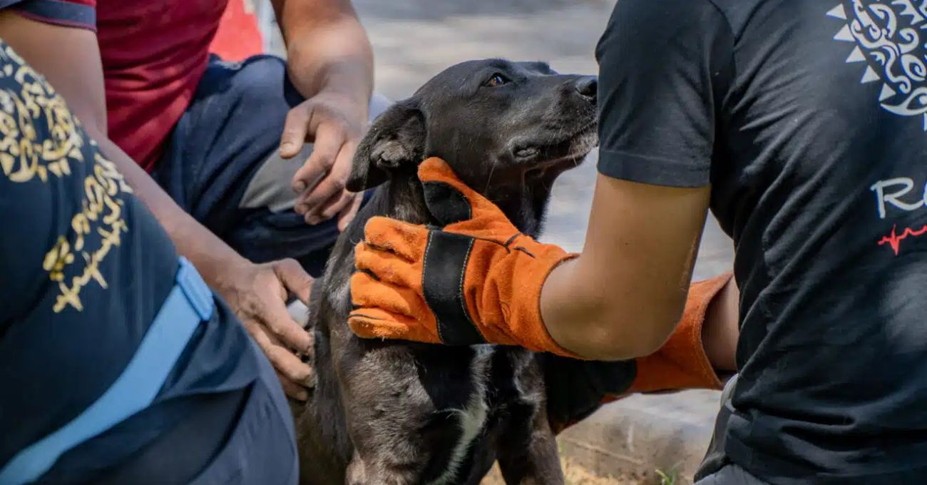
[[[181,257],[177,284],[120,377],[70,423],[17,453],[0,470],[0,485],[40,478],[63,453],[149,406],[197,326],[210,319],[213,309],[210,288],[193,264]]]

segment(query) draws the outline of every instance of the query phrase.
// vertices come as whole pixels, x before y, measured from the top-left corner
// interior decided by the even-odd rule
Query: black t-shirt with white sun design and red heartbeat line
[[[927,472],[921,4],[619,0],[598,46],[600,172],[710,184],[733,237],[726,452],[762,479]]]

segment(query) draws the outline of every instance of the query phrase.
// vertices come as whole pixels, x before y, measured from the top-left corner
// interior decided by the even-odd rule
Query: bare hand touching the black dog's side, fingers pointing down
[[[292,294],[308,305],[311,276],[294,260],[242,262],[220,274],[215,287],[273,364],[286,395],[305,401],[314,374],[296,352],[311,356],[313,338],[286,312],[286,300]]]

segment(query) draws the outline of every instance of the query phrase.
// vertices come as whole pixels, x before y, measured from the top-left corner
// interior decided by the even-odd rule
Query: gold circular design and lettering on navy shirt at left
[[[108,288],[99,265],[129,231],[122,195],[131,194],[132,188],[115,164],[85,137],[64,99],[2,41],[0,84],[0,170],[9,181],[37,179],[45,184],[50,176],[70,176],[76,164],[91,164],[83,179],[81,211],[73,215],[70,231],[57,237],[42,262],[60,291],[52,310],[60,313],[70,306],[82,312],[83,287],[95,281]],[[93,160],[85,160],[91,157]],[[98,241],[94,235],[99,236]],[[70,281],[66,272],[75,274]]]

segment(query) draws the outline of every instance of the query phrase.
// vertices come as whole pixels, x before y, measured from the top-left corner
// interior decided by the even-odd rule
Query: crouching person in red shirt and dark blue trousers
[[[0,0],[0,37],[304,398],[311,336],[286,301],[362,203],[344,182],[375,111],[373,56],[349,0],[273,0],[287,60],[222,61],[209,48],[226,3]]]

